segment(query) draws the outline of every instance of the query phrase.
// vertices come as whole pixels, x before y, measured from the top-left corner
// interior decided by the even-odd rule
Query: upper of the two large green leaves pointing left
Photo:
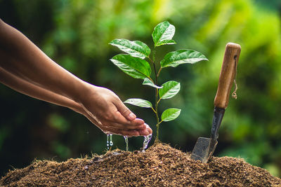
[[[117,46],[120,50],[128,53],[132,57],[139,57],[141,59],[145,59],[145,57],[149,57],[150,48],[141,42],[141,41],[129,41],[127,39],[115,39],[110,41],[112,46]]]

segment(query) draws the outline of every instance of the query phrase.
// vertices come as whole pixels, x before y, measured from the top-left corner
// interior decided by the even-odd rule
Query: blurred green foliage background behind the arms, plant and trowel
[[[197,137],[208,137],[214,96],[226,43],[242,46],[237,69],[237,100],[230,99],[214,155],[235,156],[281,176],[281,63],[278,0],[0,0],[0,18],[19,29],[65,69],[94,85],[154,102],[154,90],[120,71],[109,59],[120,51],[112,39],[140,40],[152,46],[155,25],[176,27],[173,46],[157,50],[158,62],[171,50],[190,48],[209,62],[162,71],[159,84],[181,82],[176,97],[160,104],[181,108],[181,116],[162,123],[159,139],[192,151]],[[84,116],[32,99],[0,85],[0,172],[34,160],[67,160],[104,153],[106,135]],[[149,109],[129,106],[155,132]],[[113,135],[124,150],[124,139]],[[152,140],[154,141],[154,140]],[[129,139],[129,150],[143,137]],[[151,143],[150,143],[151,144]]]

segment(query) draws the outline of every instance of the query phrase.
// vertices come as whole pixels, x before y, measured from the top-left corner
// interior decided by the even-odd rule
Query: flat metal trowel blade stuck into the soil
[[[216,139],[199,137],[193,148],[191,158],[193,160],[201,160],[203,163],[207,163],[216,149],[216,144],[218,144]]]

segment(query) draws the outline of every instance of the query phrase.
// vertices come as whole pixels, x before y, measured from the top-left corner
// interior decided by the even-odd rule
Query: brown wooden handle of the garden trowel
[[[226,44],[226,50],[221,67],[221,75],[218,81],[218,90],[214,100],[214,106],[226,109],[229,101],[230,89],[236,75],[241,46],[236,43]]]

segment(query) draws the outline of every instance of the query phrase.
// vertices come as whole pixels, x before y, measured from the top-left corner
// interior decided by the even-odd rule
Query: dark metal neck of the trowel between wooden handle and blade
[[[211,139],[218,139],[218,129],[221,126],[224,111],[226,111],[226,109],[221,109],[216,106],[214,108],[213,124],[211,125]]]

